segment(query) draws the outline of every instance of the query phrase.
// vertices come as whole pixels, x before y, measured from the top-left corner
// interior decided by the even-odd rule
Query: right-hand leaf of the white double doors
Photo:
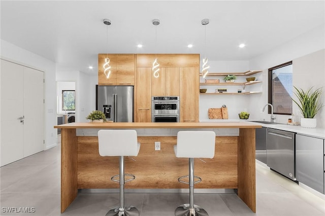
[[[44,73],[24,67],[24,157],[44,150]]]

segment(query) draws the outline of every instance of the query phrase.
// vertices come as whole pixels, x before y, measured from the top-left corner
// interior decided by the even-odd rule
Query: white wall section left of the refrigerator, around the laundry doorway
[[[98,75],[87,75],[80,71],[56,71],[56,81],[76,84],[76,122],[86,122],[88,114],[95,110],[95,85]]]

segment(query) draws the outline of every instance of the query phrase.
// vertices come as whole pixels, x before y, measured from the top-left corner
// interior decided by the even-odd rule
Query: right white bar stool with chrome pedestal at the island
[[[178,182],[189,185],[189,204],[182,204],[175,210],[175,216],[206,216],[208,213],[202,207],[194,205],[194,184],[202,178],[194,176],[194,158],[213,158],[215,148],[215,132],[213,131],[179,131],[177,145],[174,146],[177,158],[189,158],[189,175],[181,176]],[[184,182],[182,178],[189,178]],[[194,182],[194,177],[198,181]]]

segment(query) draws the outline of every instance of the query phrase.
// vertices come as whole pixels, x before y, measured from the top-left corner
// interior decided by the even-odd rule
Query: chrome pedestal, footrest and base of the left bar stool
[[[119,156],[120,159],[120,171],[119,175],[114,175],[111,179],[114,182],[120,183],[120,206],[117,208],[113,208],[107,212],[106,216],[139,216],[139,211],[134,206],[124,206],[124,183],[128,181],[132,181],[135,176],[131,174],[125,174],[128,176],[133,176],[131,179],[124,180],[124,156]],[[114,177],[119,176],[119,181],[115,180]]]

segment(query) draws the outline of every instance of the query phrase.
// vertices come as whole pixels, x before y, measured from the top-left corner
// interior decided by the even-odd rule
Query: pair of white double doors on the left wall
[[[44,150],[44,73],[1,59],[0,166]]]

